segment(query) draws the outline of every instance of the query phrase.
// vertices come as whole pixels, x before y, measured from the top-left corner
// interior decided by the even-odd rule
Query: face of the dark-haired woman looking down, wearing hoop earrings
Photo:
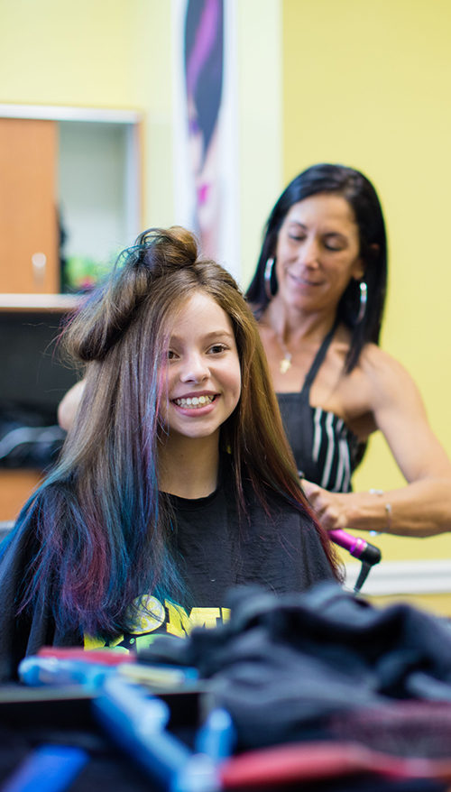
[[[276,248],[277,298],[306,311],[335,311],[352,278],[363,276],[354,212],[339,195],[293,204]]]

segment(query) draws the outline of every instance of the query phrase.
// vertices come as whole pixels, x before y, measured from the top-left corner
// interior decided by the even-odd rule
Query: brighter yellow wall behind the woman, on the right
[[[451,455],[450,32],[446,0],[283,0],[284,183],[319,161],[373,181],[390,244],[382,345]],[[354,483],[403,483],[382,437]],[[378,543],[393,560],[451,557],[451,535]]]

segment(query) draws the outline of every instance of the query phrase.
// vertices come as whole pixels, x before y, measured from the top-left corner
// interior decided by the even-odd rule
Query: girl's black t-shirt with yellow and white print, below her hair
[[[107,645],[124,651],[144,649],[158,634],[184,636],[194,626],[226,621],[226,592],[235,585],[259,584],[276,593],[304,591],[333,578],[312,522],[281,497],[268,493],[264,510],[244,482],[248,519],[238,519],[233,471],[223,460],[220,483],[207,498],[165,495],[173,512],[170,551],[187,589],[187,601],[174,594],[159,600],[142,592],[134,600],[125,631]],[[105,642],[56,625],[51,612],[51,576],[42,582],[31,613],[17,617],[24,569],[39,549],[32,520],[5,540],[0,564],[0,680],[14,677],[19,661],[44,644],[86,649]]]

